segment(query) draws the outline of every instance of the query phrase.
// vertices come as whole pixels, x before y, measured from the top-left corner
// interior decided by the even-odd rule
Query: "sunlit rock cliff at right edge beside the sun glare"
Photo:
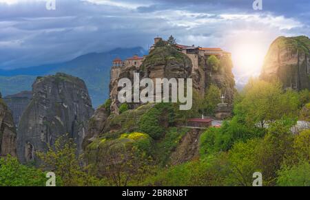
[[[310,39],[280,36],[269,47],[260,78],[279,78],[285,88],[310,89]]]

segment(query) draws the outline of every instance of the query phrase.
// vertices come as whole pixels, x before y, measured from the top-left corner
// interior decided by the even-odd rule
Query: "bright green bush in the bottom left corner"
[[[45,186],[41,170],[19,164],[16,157],[0,159],[0,186]]]

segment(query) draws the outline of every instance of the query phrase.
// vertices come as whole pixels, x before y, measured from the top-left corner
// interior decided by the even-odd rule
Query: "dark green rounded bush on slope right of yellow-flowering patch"
[[[154,140],[160,139],[165,128],[174,123],[174,109],[172,104],[155,104],[152,109],[143,114],[139,122],[140,132],[147,133]]]

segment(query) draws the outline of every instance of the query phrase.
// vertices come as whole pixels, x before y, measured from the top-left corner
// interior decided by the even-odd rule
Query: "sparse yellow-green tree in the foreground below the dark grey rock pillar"
[[[89,166],[82,167],[83,160],[76,156],[76,144],[68,134],[59,137],[46,153],[37,152],[41,168],[55,173],[57,185],[92,186],[99,180],[87,173]]]

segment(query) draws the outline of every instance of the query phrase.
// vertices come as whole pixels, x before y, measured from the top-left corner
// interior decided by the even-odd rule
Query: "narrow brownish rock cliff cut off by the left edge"
[[[2,100],[0,93],[0,157],[16,156],[16,138],[12,113]]]

